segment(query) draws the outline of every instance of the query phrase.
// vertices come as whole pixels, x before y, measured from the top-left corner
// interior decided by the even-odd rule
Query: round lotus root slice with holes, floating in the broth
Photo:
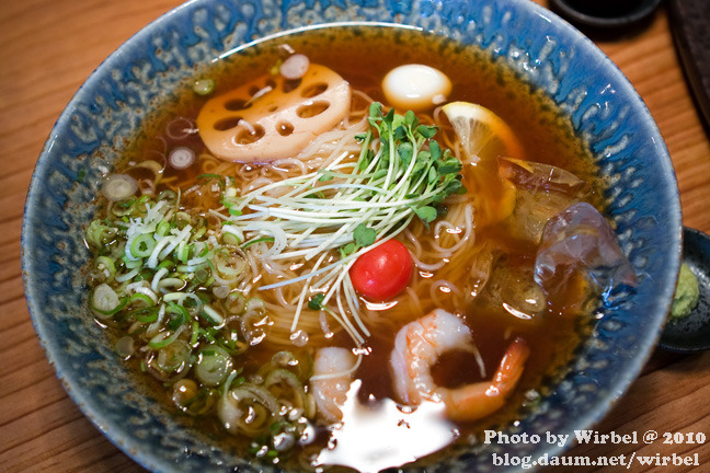
[[[199,111],[199,136],[216,157],[265,163],[296,157],[350,112],[350,84],[311,64],[299,80],[263,76],[208,101]]]

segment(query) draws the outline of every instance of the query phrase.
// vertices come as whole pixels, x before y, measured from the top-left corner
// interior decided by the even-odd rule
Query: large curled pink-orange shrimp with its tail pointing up
[[[437,358],[451,349],[470,350],[471,344],[471,332],[463,321],[440,309],[404,325],[397,334],[390,356],[397,395],[411,405],[424,400],[444,402],[453,420],[477,420],[501,408],[520,379],[530,350],[517,337],[491,381],[456,389],[436,385],[431,369]]]

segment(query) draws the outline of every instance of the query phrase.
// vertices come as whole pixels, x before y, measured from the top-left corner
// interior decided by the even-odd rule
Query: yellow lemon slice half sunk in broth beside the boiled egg
[[[501,177],[499,158],[524,159],[520,141],[501,117],[482,105],[451,102],[442,109],[459,140],[463,181],[474,193],[478,222],[505,219],[513,214],[517,193],[513,183]]]

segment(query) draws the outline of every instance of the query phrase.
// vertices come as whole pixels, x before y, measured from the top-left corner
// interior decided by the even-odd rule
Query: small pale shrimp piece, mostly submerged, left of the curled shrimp
[[[343,417],[342,407],[356,367],[355,355],[345,348],[325,347],[316,354],[311,393],[319,414],[329,423]]]

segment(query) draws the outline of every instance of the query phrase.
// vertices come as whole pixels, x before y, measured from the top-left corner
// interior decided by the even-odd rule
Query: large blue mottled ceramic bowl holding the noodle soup
[[[96,182],[162,91],[241,44],[285,30],[358,21],[408,24],[473,45],[551,97],[588,142],[609,182],[608,217],[640,277],[632,297],[603,309],[564,379],[508,434],[572,435],[609,412],[656,344],[680,261],[680,208],[671,159],[643,102],[587,38],[527,0],[194,0],[135,35],[87,80],[59,117],[32,180],[22,232],[25,293],[49,361],[84,414],[153,471],[272,471],[185,430],[131,376],[87,310],[82,243]],[[540,443],[458,446],[427,471],[506,471],[491,454]],[[404,468],[415,471],[417,468]],[[518,468],[511,468],[518,470]]]

